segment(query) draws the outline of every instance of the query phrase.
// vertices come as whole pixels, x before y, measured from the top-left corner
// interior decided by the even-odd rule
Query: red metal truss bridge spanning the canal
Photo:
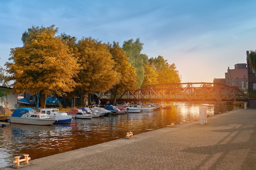
[[[246,92],[235,86],[219,83],[166,83],[149,85],[135,92],[126,91],[117,97],[123,102],[159,101],[209,101],[235,102],[249,101]]]

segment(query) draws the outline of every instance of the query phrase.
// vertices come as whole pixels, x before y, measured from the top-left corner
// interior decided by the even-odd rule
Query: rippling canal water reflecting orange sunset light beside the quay
[[[115,139],[126,132],[134,135],[164,128],[171,123],[188,123],[199,118],[199,107],[207,114],[232,110],[233,105],[172,103],[172,109],[119,114],[98,119],[76,119],[65,125],[22,125],[0,127],[0,168],[13,165],[14,157],[29,154],[31,159],[76,150]]]

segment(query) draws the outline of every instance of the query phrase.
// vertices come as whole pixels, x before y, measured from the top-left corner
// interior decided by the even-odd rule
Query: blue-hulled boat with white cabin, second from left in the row
[[[59,112],[58,109],[41,109],[42,114],[47,114],[51,119],[57,119],[55,123],[71,123],[72,115],[68,115],[66,112]]]

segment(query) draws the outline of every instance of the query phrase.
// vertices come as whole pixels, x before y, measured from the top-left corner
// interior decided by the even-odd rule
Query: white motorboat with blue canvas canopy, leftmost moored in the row
[[[51,119],[48,114],[35,112],[32,108],[18,108],[9,117],[11,123],[29,124],[29,125],[52,125],[57,119]]]

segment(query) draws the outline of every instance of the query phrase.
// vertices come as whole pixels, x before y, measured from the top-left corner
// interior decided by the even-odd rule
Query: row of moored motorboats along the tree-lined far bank
[[[9,117],[11,123],[21,123],[30,125],[52,125],[53,123],[71,123],[72,119],[92,119],[100,116],[108,116],[109,114],[125,114],[139,112],[153,112],[154,109],[160,107],[152,104],[146,106],[142,103],[136,105],[128,105],[125,107],[108,105],[105,108],[101,107],[82,107],[72,109],[68,112],[60,112],[57,108],[45,108],[40,112],[36,112],[29,107],[22,107],[14,110]]]

